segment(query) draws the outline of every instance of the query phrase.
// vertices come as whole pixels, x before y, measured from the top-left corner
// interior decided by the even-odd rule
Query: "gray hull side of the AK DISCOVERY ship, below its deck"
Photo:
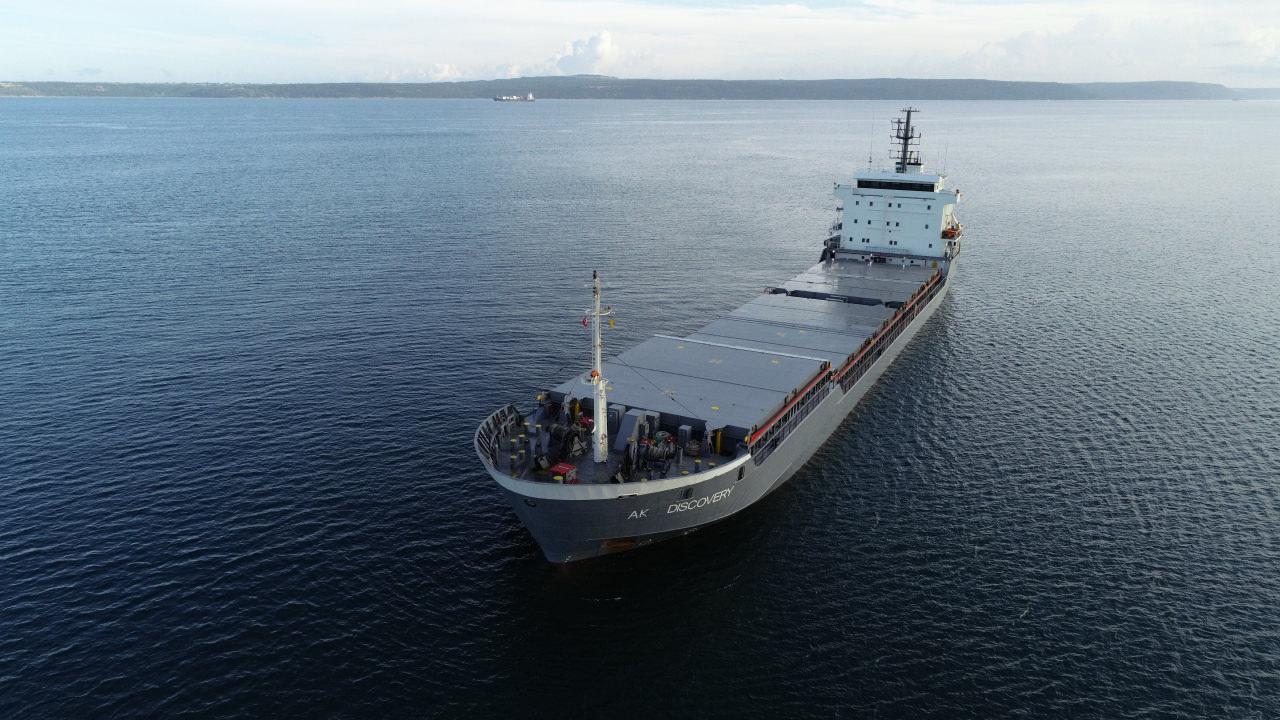
[[[530,482],[486,464],[489,474],[552,562],[631,550],[723,520],[777,489],[809,461],[937,311],[954,275],[952,260],[938,292],[856,383],[847,391],[833,388],[760,464],[741,455],[689,477],[623,486]]]

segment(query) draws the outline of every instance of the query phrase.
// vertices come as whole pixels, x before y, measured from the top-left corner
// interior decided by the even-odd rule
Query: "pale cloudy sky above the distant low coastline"
[[[577,73],[1280,87],[1280,0],[0,0],[0,81]]]

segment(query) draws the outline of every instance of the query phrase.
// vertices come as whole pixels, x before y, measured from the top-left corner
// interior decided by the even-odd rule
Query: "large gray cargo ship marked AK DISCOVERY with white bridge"
[[[552,562],[691,533],[787,482],[938,309],[956,274],[959,190],[924,172],[915,108],[893,164],[835,186],[817,265],[698,331],[611,357],[593,273],[589,372],[507,405],[475,450]]]

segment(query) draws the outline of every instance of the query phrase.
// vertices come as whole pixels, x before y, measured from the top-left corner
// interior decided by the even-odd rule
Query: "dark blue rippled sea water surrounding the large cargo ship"
[[[470,438],[817,260],[896,104],[0,102],[0,717],[1280,716],[1280,105],[934,102],[952,293],[740,516]]]

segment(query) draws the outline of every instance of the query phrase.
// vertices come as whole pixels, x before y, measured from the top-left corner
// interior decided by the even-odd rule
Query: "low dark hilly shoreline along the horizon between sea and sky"
[[[991,79],[719,81],[604,76],[465,82],[128,83],[0,82],[0,97],[475,99],[532,92],[539,100],[1245,100],[1280,88],[1202,82],[1020,82]]]

